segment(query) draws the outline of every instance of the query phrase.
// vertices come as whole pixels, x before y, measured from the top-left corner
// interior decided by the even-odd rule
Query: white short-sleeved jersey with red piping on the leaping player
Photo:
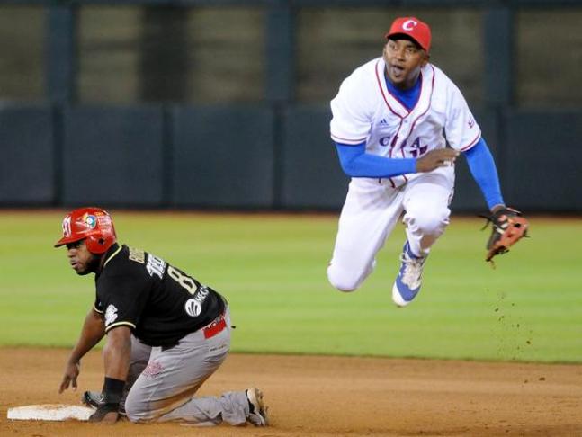
[[[420,95],[412,111],[389,92],[384,71],[384,59],[376,58],[344,80],[331,101],[334,141],[353,145],[365,141],[366,153],[391,158],[416,158],[445,147],[446,141],[465,151],[479,141],[479,125],[461,91],[438,67],[422,68]],[[398,187],[414,177],[403,174],[389,182]]]

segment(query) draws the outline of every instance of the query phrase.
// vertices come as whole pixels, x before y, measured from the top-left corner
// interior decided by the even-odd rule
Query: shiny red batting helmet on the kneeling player
[[[104,254],[115,243],[115,228],[109,213],[100,208],[79,208],[63,219],[63,237],[55,247],[85,239],[92,254]]]

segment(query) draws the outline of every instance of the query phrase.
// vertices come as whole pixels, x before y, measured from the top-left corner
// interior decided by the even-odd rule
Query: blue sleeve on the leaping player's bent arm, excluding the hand
[[[350,177],[391,177],[416,173],[416,159],[394,159],[366,153],[366,144],[336,143],[337,156]]]

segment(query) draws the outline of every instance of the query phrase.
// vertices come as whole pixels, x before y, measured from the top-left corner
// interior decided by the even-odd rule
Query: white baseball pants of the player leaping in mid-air
[[[403,211],[413,254],[427,255],[449,224],[453,188],[454,167],[416,174],[398,188],[387,179],[352,179],[327,267],[329,282],[337,290],[356,290],[372,273],[376,254]]]

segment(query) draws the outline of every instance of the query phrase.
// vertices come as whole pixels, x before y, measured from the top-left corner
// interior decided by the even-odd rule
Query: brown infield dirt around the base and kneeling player
[[[85,389],[101,387],[101,354],[90,352],[77,391],[58,395],[67,354],[0,348],[0,435],[582,435],[582,365],[291,355],[231,354],[198,393],[259,387],[268,428],[8,421],[9,407],[76,405]]]

